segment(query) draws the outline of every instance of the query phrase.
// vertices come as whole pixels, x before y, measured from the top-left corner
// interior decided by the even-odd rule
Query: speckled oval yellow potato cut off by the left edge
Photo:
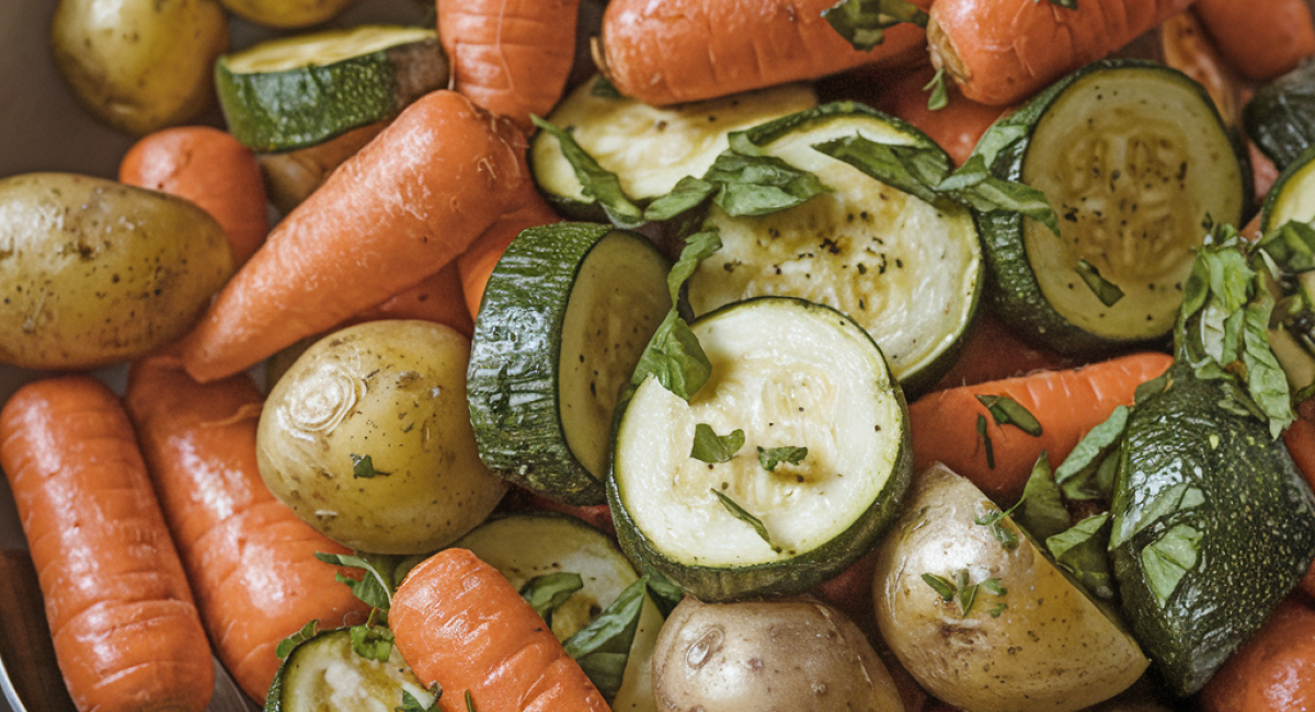
[[[70,173],[0,180],[0,361],[84,369],[183,336],[233,275],[191,202]]]

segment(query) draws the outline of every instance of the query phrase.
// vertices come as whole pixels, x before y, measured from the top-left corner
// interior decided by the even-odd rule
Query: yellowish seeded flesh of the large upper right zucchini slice
[[[1023,183],[1045,193],[1061,238],[1035,221],[1023,244],[1041,294],[1099,338],[1145,340],[1173,327],[1210,221],[1236,223],[1243,173],[1202,91],[1160,68],[1090,72],[1036,123]],[[1078,260],[1123,290],[1105,305]]]

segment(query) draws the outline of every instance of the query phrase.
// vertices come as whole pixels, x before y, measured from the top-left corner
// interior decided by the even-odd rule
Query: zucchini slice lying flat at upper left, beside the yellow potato
[[[447,85],[433,29],[366,25],[262,42],[214,64],[229,131],[255,151],[314,146],[388,121]]]

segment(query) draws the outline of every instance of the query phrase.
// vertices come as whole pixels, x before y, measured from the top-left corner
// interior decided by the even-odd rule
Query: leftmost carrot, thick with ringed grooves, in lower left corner
[[[0,468],[78,709],[205,709],[210,646],[114,394],[87,376],[28,384],[0,411]]]

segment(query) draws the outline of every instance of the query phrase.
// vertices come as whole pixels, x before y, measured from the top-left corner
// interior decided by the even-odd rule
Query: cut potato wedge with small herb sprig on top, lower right
[[[899,662],[928,692],[970,712],[1074,711],[1136,682],[1149,662],[1118,619],[1011,520],[1018,546],[1001,545],[974,522],[990,511],[986,495],[944,465],[914,477],[873,579],[877,624]],[[923,574],[977,585],[967,615]],[[981,586],[993,578],[1002,592]]]

